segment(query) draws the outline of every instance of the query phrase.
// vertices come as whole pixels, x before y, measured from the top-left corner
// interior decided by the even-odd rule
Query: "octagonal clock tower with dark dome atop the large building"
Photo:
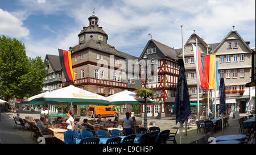
[[[102,27],[98,26],[98,17],[92,15],[88,18],[89,26],[83,27],[79,33],[79,43],[85,43],[88,40],[95,40],[101,43],[107,43],[108,35],[103,31]]]

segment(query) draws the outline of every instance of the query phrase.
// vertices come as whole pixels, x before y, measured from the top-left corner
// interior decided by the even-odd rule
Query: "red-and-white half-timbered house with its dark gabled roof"
[[[139,61],[144,60],[145,55],[150,60],[154,59],[157,72],[151,74],[152,76],[147,76],[146,87],[154,90],[154,100],[162,103],[148,104],[146,108],[147,116],[159,116],[159,114],[161,116],[174,116],[175,92],[179,74],[177,52],[179,50],[151,39],[139,57]],[[152,66],[153,68],[154,66]],[[143,72],[145,71],[142,69],[141,76],[144,75]],[[151,73],[151,71],[147,72]],[[145,86],[144,80],[145,78],[141,78],[142,87]],[[144,116],[144,105],[142,106],[142,116]]]

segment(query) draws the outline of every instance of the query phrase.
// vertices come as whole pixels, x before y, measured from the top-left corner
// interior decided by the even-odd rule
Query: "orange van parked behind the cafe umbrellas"
[[[89,106],[89,116],[92,116],[92,112],[94,110],[94,106]],[[117,111],[118,114],[118,111]],[[115,116],[115,108],[113,106],[95,106],[95,116],[98,118],[99,116],[107,116],[114,117]]]

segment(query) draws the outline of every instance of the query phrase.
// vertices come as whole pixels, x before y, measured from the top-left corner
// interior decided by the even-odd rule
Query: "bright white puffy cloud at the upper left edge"
[[[30,31],[23,26],[23,22],[7,11],[0,9],[0,34],[10,37],[24,37],[28,39]]]

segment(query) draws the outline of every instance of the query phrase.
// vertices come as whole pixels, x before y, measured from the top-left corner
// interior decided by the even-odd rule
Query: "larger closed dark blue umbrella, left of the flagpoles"
[[[177,91],[175,95],[174,113],[176,115],[176,124],[178,122],[183,124],[185,120],[188,119],[188,116],[191,115],[191,108],[183,59],[179,58],[177,64],[179,65],[180,69]]]

